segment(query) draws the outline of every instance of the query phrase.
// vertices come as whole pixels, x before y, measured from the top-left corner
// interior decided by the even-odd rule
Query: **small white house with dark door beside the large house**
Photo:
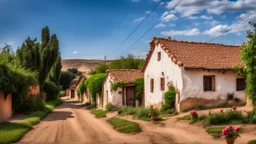
[[[140,70],[107,70],[106,78],[103,83],[103,108],[105,108],[107,103],[112,103],[115,107],[135,106],[136,99],[134,80],[136,78],[143,78],[143,73]],[[123,86],[114,88],[113,85],[118,85],[118,83],[120,85],[123,84]],[[143,103],[144,97],[142,96],[140,104]]]

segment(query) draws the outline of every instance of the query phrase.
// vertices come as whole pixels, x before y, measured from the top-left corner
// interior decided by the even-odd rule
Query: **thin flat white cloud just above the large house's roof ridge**
[[[198,28],[193,28],[191,30],[170,30],[161,32],[161,35],[164,36],[175,36],[175,35],[183,35],[183,36],[193,36],[199,35],[200,31]]]

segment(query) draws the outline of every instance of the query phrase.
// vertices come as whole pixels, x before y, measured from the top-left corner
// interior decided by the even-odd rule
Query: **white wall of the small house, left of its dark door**
[[[113,80],[109,76],[107,76],[104,82],[104,91],[103,91],[103,108],[104,109],[107,103],[112,103],[115,107],[121,107],[123,105],[122,88],[117,88],[117,90],[113,90],[111,92],[111,82],[113,82]],[[119,91],[121,92],[120,94],[118,93]]]

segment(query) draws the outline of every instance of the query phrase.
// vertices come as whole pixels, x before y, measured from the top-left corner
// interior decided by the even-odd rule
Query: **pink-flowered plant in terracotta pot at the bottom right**
[[[227,144],[234,144],[236,138],[240,137],[239,132],[240,128],[233,128],[232,125],[227,126],[222,130],[222,134],[225,136]]]

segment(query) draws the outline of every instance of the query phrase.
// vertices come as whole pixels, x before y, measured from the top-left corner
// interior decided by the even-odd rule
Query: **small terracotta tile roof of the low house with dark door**
[[[136,78],[143,78],[144,74],[140,70],[135,69],[110,69],[107,70],[107,75],[114,82],[133,83]]]

